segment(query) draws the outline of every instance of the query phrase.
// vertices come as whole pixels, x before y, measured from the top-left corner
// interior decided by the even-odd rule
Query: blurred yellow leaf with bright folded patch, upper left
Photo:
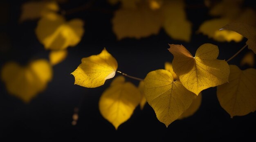
[[[66,22],[64,17],[49,13],[38,21],[36,36],[45,49],[61,50],[76,46],[84,33],[83,21],[73,19]]]

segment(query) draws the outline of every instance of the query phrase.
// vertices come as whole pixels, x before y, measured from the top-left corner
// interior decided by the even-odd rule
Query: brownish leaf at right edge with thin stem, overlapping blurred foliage
[[[229,23],[223,29],[235,31],[246,37],[248,48],[256,54],[256,27],[245,23]]]

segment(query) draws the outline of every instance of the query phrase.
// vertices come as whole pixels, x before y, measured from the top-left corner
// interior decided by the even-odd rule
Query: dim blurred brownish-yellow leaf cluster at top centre
[[[183,0],[109,0],[121,2],[112,19],[118,39],[148,37],[163,27],[173,39],[189,42],[191,23],[186,20]]]

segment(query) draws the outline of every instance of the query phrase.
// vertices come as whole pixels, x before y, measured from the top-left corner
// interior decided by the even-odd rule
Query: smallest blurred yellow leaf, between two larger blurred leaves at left
[[[52,66],[62,62],[67,57],[67,50],[54,50],[49,54],[50,63]]]

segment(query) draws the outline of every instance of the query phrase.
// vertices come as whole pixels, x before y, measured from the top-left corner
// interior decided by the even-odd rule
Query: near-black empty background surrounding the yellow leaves
[[[32,59],[48,59],[46,51],[38,42],[34,29],[37,20],[19,23],[20,6],[27,0],[2,1],[0,21],[0,68],[7,61],[16,61],[25,65]],[[68,1],[60,4],[61,9],[68,10],[85,4],[84,1]],[[118,70],[132,76],[144,78],[150,71],[164,68],[164,62],[172,61],[168,44],[182,44],[192,55],[204,44],[218,45],[218,59],[228,59],[245,45],[240,43],[216,42],[202,34],[196,34],[200,24],[212,17],[203,1],[187,0],[186,13],[193,23],[191,42],[175,41],[163,29],[158,35],[142,39],[117,40],[112,32],[111,19],[117,6],[110,6],[103,0],[95,0],[92,7],[85,11],[67,15],[67,20],[81,18],[85,21],[85,33],[81,42],[68,48],[65,61],[53,67],[54,74],[47,89],[39,93],[29,104],[7,93],[4,83],[0,82],[0,138],[35,138],[41,139],[79,139],[82,141],[241,141],[256,135],[256,113],[230,118],[220,106],[216,87],[202,91],[200,109],[191,117],[176,120],[166,128],[159,122],[153,109],[146,104],[144,110],[137,107],[131,118],[120,125],[118,130],[105,120],[98,107],[99,97],[109,87],[112,79],[97,88],[85,88],[74,85],[74,76],[70,75],[81,63],[83,57],[96,55],[106,47],[118,61]],[[245,6],[255,4],[245,1]],[[255,17],[252,17],[255,18]],[[249,50],[245,49],[229,64],[239,65],[240,59]],[[242,69],[248,68],[247,66]],[[118,75],[118,74],[117,74]],[[127,78],[135,85],[138,81]],[[79,120],[72,126],[74,107],[79,106]]]

